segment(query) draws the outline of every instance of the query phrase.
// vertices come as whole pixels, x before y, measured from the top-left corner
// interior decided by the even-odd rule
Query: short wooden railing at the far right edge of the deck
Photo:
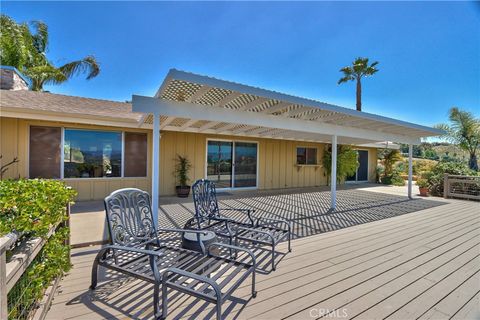
[[[480,176],[445,174],[443,180],[443,197],[480,201]]]

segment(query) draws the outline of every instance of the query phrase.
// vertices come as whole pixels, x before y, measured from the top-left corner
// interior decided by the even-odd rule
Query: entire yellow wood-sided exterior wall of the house
[[[19,163],[14,164],[5,173],[4,178],[28,177],[28,143],[29,126],[56,126],[66,128],[124,130],[129,132],[148,132],[148,159],[151,159],[152,133],[144,129],[124,129],[94,125],[75,125],[62,122],[0,118],[0,151],[5,164],[14,157]],[[296,166],[297,147],[316,147],[317,160],[320,163],[325,144],[303,141],[289,141],[263,138],[247,138],[226,135],[162,131],[160,140],[160,194],[175,193],[175,157],[177,154],[187,156],[192,163],[191,181],[205,177],[207,140],[252,141],[258,143],[258,188],[277,189],[295,187],[313,187],[326,185],[327,177],[321,166]],[[365,148],[367,149],[367,148]],[[375,180],[376,149],[369,148],[369,180]],[[145,178],[77,178],[64,179],[78,191],[77,200],[99,200],[110,192],[126,187],[150,190],[151,164],[148,164]]]

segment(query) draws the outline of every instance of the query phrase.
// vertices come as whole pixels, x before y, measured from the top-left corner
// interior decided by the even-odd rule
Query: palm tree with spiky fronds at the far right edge
[[[480,145],[480,119],[468,111],[453,107],[448,112],[450,124],[442,123],[436,127],[445,131],[444,138],[457,144],[468,152],[468,166],[478,171],[477,151]]]

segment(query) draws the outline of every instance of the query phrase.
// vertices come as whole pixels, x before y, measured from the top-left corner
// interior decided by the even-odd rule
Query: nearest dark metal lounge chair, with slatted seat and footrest
[[[92,290],[97,286],[99,266],[152,283],[156,318],[167,316],[167,288],[215,303],[217,319],[221,319],[223,302],[249,275],[252,275],[252,296],[256,296],[253,253],[222,243],[205,248],[200,239],[202,234],[207,234],[205,231],[155,228],[147,192],[133,188],[117,190],[105,198],[105,212],[111,244],[103,247],[95,257]],[[185,232],[197,234],[202,252],[163,245],[159,237],[162,233]],[[229,250],[246,253],[251,263],[233,259]]]

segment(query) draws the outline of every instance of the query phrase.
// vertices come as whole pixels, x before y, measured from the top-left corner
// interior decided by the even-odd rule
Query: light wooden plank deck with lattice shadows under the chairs
[[[325,204],[323,199],[327,201]],[[323,204],[322,204],[323,203]],[[224,304],[231,319],[479,319],[480,204],[458,200],[408,200],[362,190],[339,192],[329,212],[328,192],[228,199],[222,205],[254,206],[295,225],[293,252],[277,271],[256,250],[258,296],[249,283]],[[181,226],[189,204],[164,206],[163,223]],[[88,290],[98,248],[72,252],[47,319],[150,319],[152,288],[102,271]],[[286,244],[279,251],[285,252]],[[172,293],[169,318],[209,319],[212,305]]]

